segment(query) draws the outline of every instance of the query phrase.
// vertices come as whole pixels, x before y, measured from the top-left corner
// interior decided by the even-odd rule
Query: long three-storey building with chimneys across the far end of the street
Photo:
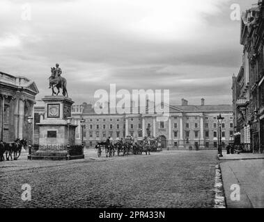
[[[166,105],[166,104],[164,104]],[[81,143],[80,120],[85,119],[84,143],[86,147],[94,147],[97,142],[112,137],[114,141],[132,135],[141,140],[144,136],[162,137],[163,148],[200,149],[217,148],[217,115],[222,114],[222,141],[225,146],[233,141],[232,105],[169,105],[169,119],[157,121],[157,114],[96,114],[91,104],[72,105],[73,123],[77,124],[76,139]]]

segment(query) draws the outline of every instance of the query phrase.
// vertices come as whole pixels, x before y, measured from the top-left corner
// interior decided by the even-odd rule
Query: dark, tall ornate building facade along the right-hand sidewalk
[[[242,67],[233,77],[233,112],[240,142],[264,150],[264,10],[263,2],[246,10],[241,19]]]

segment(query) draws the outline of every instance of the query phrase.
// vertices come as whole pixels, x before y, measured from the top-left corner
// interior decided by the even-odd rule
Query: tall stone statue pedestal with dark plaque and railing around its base
[[[31,159],[71,160],[84,158],[83,148],[75,145],[75,128],[68,123],[71,117],[72,101],[65,96],[45,96],[45,114],[40,118],[38,151]]]

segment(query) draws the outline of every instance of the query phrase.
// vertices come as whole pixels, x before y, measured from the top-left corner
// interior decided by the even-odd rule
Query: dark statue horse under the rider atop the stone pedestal
[[[52,96],[54,96],[54,94],[56,94],[56,96],[58,96],[59,92],[60,92],[60,88],[63,90],[62,94],[63,96],[68,97],[68,92],[67,92],[67,80],[61,76],[58,76],[56,74],[56,68],[53,67],[51,68],[51,72],[52,72],[52,76],[49,77],[49,84],[52,85]],[[58,92],[56,93],[54,91],[54,87],[56,87],[58,89]]]

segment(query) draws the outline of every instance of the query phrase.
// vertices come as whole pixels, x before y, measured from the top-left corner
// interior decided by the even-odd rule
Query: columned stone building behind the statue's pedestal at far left
[[[33,116],[36,94],[38,88],[32,80],[0,72],[0,132],[3,141],[29,137],[27,117]]]

